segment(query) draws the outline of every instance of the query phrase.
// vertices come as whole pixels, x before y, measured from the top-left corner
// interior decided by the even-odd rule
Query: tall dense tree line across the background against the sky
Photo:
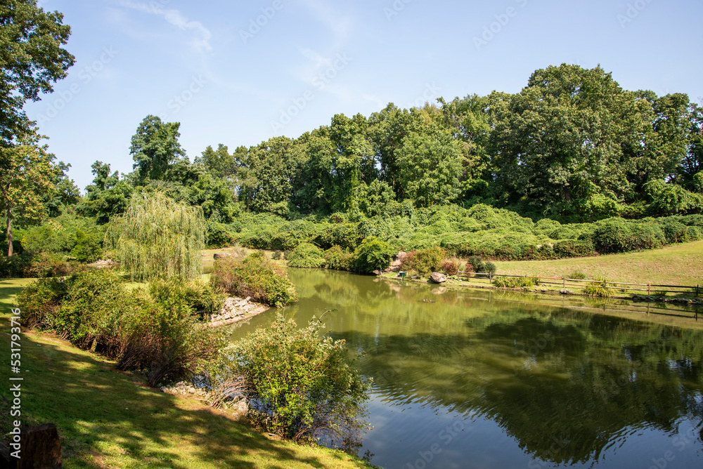
[[[375,216],[389,204],[488,204],[567,222],[701,213],[703,109],[626,91],[602,68],[536,70],[520,93],[336,114],[298,138],[208,146],[191,163],[179,123],[146,117],[134,172],[96,178],[81,202],[107,220],[138,187],[164,187],[229,222],[238,211]]]

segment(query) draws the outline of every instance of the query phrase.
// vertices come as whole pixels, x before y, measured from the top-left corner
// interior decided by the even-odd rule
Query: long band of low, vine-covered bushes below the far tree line
[[[241,220],[235,238],[255,249],[295,250],[299,244],[309,243],[320,249],[340,246],[351,252],[364,239],[376,237],[397,251],[439,246],[453,256],[541,260],[695,241],[703,237],[702,220],[701,215],[688,215],[562,225],[548,219],[534,222],[483,204],[470,209],[449,205],[414,209],[410,216],[373,218],[337,213],[324,219],[288,221],[271,214],[250,215]]]

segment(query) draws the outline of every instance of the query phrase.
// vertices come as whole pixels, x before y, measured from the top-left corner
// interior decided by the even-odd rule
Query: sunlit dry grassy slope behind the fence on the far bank
[[[605,277],[614,282],[703,286],[703,241],[591,258],[496,261],[496,266],[499,274],[508,275],[568,277],[580,270],[588,279]]]

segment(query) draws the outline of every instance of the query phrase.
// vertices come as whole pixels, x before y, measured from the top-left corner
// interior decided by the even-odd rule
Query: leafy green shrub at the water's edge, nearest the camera
[[[209,376],[213,388],[243,376],[250,419],[267,431],[299,442],[324,437],[335,447],[359,441],[366,426],[366,384],[344,341],[321,337],[313,318],[305,329],[278,315],[229,345]]]

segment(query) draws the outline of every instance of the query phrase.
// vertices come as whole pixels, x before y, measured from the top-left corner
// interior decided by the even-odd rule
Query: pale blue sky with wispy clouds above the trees
[[[129,172],[148,114],[181,123],[191,161],[207,145],[256,145],[491,91],[539,68],[600,64],[625,89],[703,100],[699,0],[41,0],[72,27],[76,57],[25,107],[83,189],[101,160]]]

